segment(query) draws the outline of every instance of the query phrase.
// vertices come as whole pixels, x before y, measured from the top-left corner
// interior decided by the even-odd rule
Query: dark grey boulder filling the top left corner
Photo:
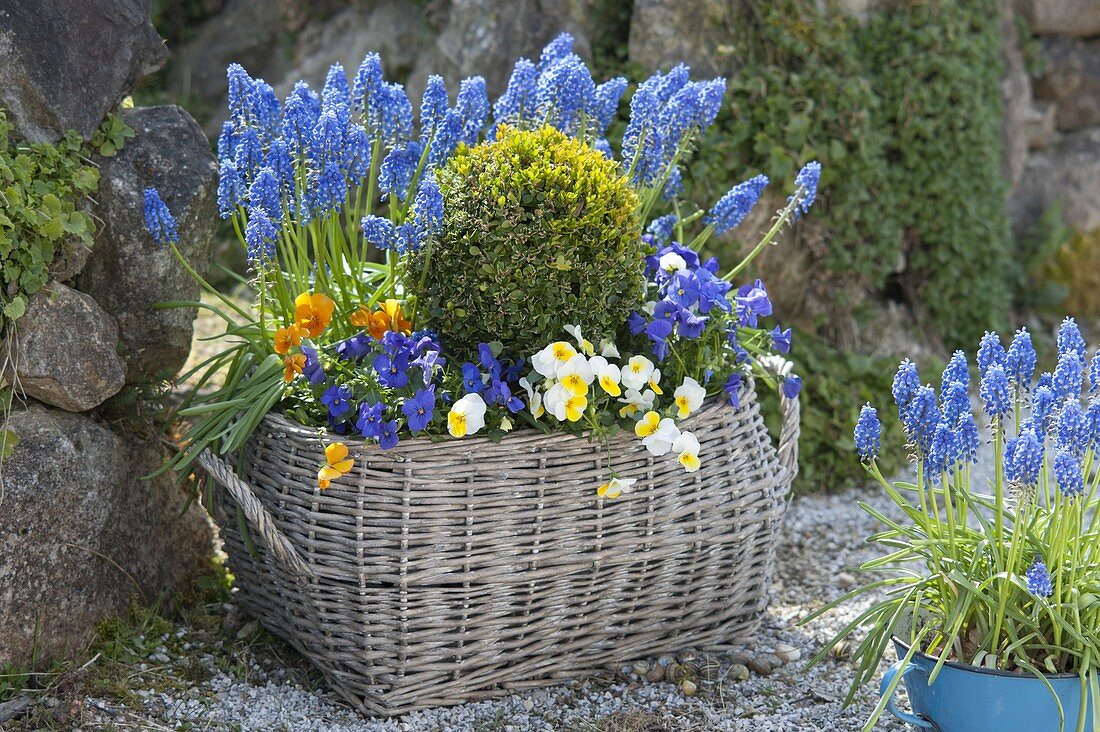
[[[147,0],[0,0],[0,107],[29,140],[90,136],[165,58]]]

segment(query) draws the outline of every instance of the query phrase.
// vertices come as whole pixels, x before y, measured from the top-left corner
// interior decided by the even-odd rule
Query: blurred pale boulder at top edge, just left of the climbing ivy
[[[722,53],[734,32],[733,6],[718,0],[636,0],[630,61],[650,72],[683,62],[696,77],[733,73],[734,59]]]

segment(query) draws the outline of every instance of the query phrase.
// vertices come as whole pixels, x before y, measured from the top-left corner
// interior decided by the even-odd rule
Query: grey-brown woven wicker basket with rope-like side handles
[[[740,408],[705,406],[682,425],[695,473],[617,436],[615,468],[641,480],[606,502],[603,447],[537,430],[345,440],[355,467],[322,493],[317,431],[272,414],[240,478],[202,466],[232,496],[215,516],[245,609],[358,710],[393,715],[748,640],[796,471],[798,400],[782,414],[777,450],[751,384]]]

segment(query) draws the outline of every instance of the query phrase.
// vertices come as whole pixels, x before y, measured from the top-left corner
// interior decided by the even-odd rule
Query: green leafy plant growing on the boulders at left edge
[[[22,316],[28,297],[46,284],[50,265],[66,238],[91,245],[95,223],[78,207],[99,187],[99,170],[89,164],[87,152],[75,132],[57,144],[20,142],[0,110],[0,308],[4,321]]]

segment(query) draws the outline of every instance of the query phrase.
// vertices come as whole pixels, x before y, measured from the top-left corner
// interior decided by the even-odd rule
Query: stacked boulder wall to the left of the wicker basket
[[[23,139],[90,135],[166,56],[142,0],[0,0],[0,108]],[[209,521],[183,511],[176,481],[141,478],[164,458],[155,434],[110,407],[190,351],[195,312],[154,306],[198,287],[145,234],[144,188],[160,188],[185,256],[205,269],[217,166],[183,109],[122,118],[135,136],[95,161],[94,247],[56,263],[3,335],[19,395],[6,427],[20,441],[0,467],[0,666],[78,654],[100,619],[188,587],[212,551]]]

